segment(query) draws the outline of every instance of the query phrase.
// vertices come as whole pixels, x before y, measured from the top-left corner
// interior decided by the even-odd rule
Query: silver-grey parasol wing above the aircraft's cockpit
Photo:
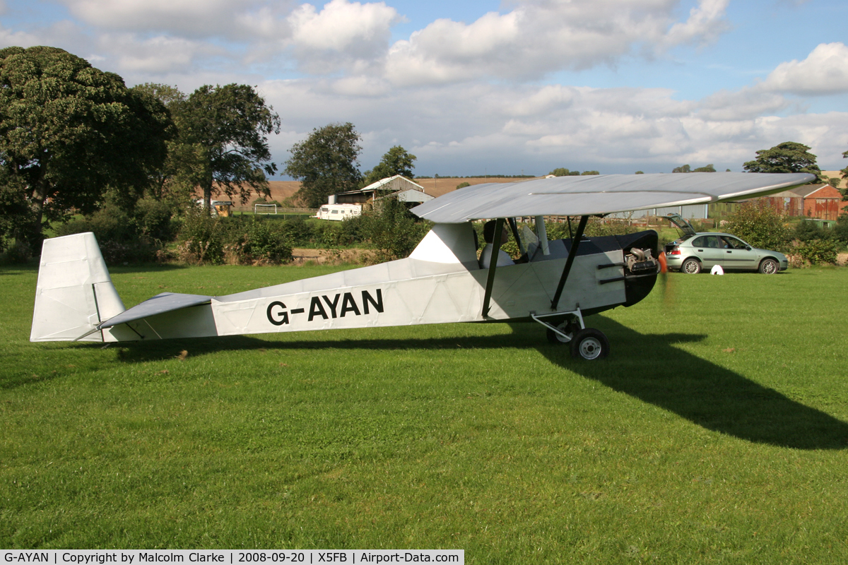
[[[412,212],[437,224],[513,216],[583,216],[760,196],[815,178],[806,173],[558,176],[468,186],[416,206]]]

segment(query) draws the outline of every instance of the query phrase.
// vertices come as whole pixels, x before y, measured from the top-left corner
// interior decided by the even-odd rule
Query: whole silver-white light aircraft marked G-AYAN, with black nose
[[[590,216],[782,191],[812,174],[611,174],[471,186],[412,209],[435,223],[409,258],[227,296],[164,292],[126,309],[91,233],[44,241],[31,341],[149,341],[213,335],[533,320],[575,357],[609,352],[584,318],[647,296],[657,234],[583,237]],[[579,217],[549,241],[544,216]],[[533,217],[535,230],[516,217]],[[522,261],[482,268],[471,221],[509,226]]]

